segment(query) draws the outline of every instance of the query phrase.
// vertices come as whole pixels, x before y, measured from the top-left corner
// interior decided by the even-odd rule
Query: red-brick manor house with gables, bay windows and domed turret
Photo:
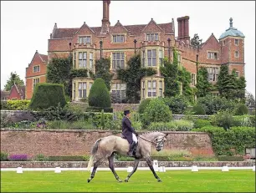
[[[164,79],[159,70],[160,62],[161,58],[168,58],[169,55],[172,61],[173,48],[177,48],[179,64],[191,73],[192,87],[197,81],[197,54],[200,63],[198,68],[207,68],[208,80],[212,84],[218,80],[221,65],[228,65],[229,72],[235,69],[238,77],[244,76],[244,35],[233,28],[232,18],[229,28],[219,39],[212,33],[197,50],[190,45],[188,16],[177,18],[176,32],[173,18],[170,23],[156,23],[151,18],[147,24],[123,25],[117,21],[111,26],[109,10],[110,1],[103,1],[101,27],[90,27],[84,22],[80,28],[58,28],[55,23],[48,40],[48,55],[36,51],[26,69],[26,99],[32,98],[35,84],[45,82],[46,66],[52,58],[66,58],[73,54],[74,69],[85,68],[95,72],[95,60],[100,58],[100,41],[102,57],[110,58],[111,72],[125,69],[135,50],[141,53],[143,67],[156,69],[156,75],[141,79],[141,99],[163,96]],[[73,79],[72,99],[77,101],[88,97],[93,82],[90,77]],[[110,92],[125,98],[125,88],[125,83],[114,76]]]

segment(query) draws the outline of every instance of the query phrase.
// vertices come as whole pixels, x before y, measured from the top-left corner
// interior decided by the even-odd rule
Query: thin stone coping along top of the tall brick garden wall
[[[116,134],[120,134],[121,130],[51,130],[51,129],[8,129],[8,128],[1,128],[0,131],[37,131],[37,132],[42,132],[42,131],[47,131],[47,132],[98,132],[98,133],[106,133],[106,132],[111,132],[111,133],[116,133]],[[148,133],[148,132],[154,132],[154,131],[150,131],[150,130],[138,130],[137,133],[139,134],[144,134],[144,133]],[[165,134],[205,134],[206,132],[198,132],[198,131],[168,131],[168,130],[161,130],[159,132],[165,133]]]

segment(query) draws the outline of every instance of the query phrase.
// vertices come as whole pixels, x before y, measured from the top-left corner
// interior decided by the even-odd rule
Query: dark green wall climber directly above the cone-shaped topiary
[[[111,79],[114,74],[110,74],[110,58],[100,58],[95,64],[95,79],[104,79],[106,87],[110,90]]]

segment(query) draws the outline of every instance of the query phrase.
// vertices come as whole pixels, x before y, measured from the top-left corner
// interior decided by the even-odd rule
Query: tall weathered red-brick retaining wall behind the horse
[[[209,136],[203,132],[168,133],[165,149],[188,150],[192,155],[214,155]],[[89,155],[95,140],[120,132],[108,130],[1,130],[1,151],[9,155]]]

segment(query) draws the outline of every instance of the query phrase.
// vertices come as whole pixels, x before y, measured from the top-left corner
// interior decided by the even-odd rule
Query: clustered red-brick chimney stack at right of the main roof
[[[177,18],[178,22],[178,39],[183,40],[185,43],[187,40],[190,43],[190,37],[189,37],[189,23],[188,23],[189,17],[185,16],[182,18]]]

